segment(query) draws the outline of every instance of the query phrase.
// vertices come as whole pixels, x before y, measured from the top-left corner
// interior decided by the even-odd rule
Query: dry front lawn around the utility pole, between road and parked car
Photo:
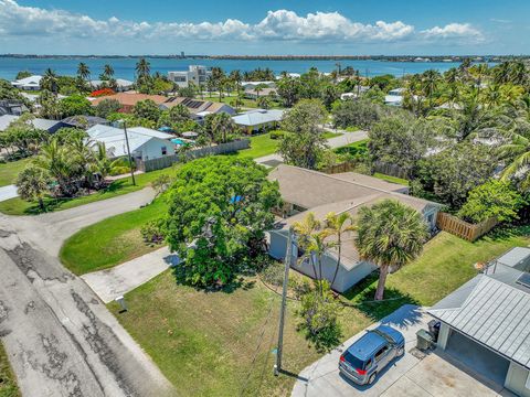
[[[176,386],[179,396],[287,396],[295,383],[275,377],[280,297],[261,281],[231,292],[204,292],[179,286],[170,270],[126,294],[129,311],[108,307]],[[296,331],[289,301],[284,333],[284,367],[293,374],[320,354]],[[348,335],[370,319],[344,310]]]

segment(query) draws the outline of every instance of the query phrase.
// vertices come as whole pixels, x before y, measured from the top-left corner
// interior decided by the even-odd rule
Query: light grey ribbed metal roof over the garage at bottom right
[[[490,350],[530,368],[530,289],[477,276],[428,312]]]

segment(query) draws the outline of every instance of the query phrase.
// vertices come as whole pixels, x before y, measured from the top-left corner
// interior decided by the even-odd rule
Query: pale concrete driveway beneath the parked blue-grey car
[[[337,350],[305,368],[295,384],[294,397],[326,396],[386,396],[386,397],[431,397],[431,396],[506,396],[502,387],[487,385],[464,372],[462,366],[451,363],[437,353],[422,358],[411,354],[416,345],[416,331],[427,328],[432,318],[418,307],[405,304],[380,323],[399,329],[405,336],[405,355],[391,363],[371,386],[358,386],[338,369],[340,354],[364,331],[348,340]]]

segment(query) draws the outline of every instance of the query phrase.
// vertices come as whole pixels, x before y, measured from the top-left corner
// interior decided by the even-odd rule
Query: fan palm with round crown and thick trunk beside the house
[[[414,208],[383,200],[359,210],[356,246],[362,259],[379,267],[375,300],[382,300],[389,272],[415,259],[427,238],[427,224]]]

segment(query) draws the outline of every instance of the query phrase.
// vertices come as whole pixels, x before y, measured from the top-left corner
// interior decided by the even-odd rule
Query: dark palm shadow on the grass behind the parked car
[[[374,322],[390,315],[404,304],[421,305],[415,298],[393,287],[386,287],[384,289],[384,299],[375,301],[378,278],[379,273],[372,272],[346,291],[342,294],[348,300],[343,302],[344,305],[359,310]]]

